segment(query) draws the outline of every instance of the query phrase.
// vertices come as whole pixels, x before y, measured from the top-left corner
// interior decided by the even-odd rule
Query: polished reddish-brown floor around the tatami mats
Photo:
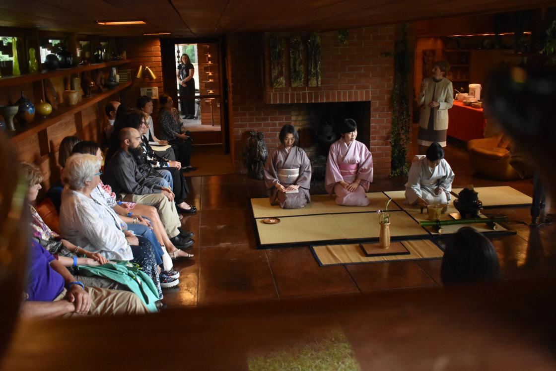
[[[475,176],[465,149],[446,148],[446,159],[456,173],[454,187],[474,184],[512,185],[532,194],[532,181],[497,182]],[[165,290],[170,305],[212,305],[259,300],[286,300],[322,295],[361,295],[376,290],[431,287],[440,284],[440,260],[389,262],[319,267],[308,247],[256,248],[249,199],[265,197],[262,181],[242,174],[187,177],[188,202],[200,210],[183,226],[195,232],[195,254],[175,263],[180,285]],[[403,178],[376,179],[372,190],[400,190]],[[317,183],[312,193],[324,193]],[[504,214],[516,235],[493,239],[504,279],[556,275],[556,223],[529,227],[527,207],[489,209]]]

